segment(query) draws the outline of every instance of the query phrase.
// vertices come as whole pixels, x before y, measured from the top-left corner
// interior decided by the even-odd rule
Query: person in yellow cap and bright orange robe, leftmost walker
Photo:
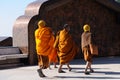
[[[38,29],[35,30],[35,42],[39,66],[39,69],[37,71],[40,77],[46,77],[43,74],[42,69],[46,69],[49,67],[48,55],[52,52],[53,48],[53,45],[51,45],[51,42],[53,42],[52,30],[45,25],[45,21],[40,20],[38,22]]]

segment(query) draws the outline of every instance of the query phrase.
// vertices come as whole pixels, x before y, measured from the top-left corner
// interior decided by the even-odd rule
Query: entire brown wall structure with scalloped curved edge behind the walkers
[[[41,2],[42,1],[42,2]],[[13,46],[29,54],[30,64],[37,61],[34,31],[37,22],[44,19],[56,33],[65,23],[70,24],[71,34],[80,46],[84,24],[91,26],[99,47],[99,56],[120,55],[120,34],[116,14],[120,14],[97,2],[97,0],[37,0],[30,3],[25,14],[13,27]],[[76,58],[83,57],[81,50]]]

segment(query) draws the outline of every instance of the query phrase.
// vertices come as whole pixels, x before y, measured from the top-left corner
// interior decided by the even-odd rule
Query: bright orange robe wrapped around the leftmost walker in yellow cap
[[[48,56],[53,46],[50,45],[52,40],[52,31],[48,27],[41,27],[35,31],[36,50],[38,55]]]

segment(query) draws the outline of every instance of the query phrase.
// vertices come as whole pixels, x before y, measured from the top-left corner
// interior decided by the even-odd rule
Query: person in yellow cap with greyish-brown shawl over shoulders
[[[90,72],[94,72],[91,68],[92,64],[92,54],[90,52],[90,44],[93,44],[92,34],[90,32],[90,26],[88,24],[83,26],[84,32],[81,35],[81,48],[84,54],[84,60],[86,61],[85,74],[89,74],[87,71],[88,68]]]

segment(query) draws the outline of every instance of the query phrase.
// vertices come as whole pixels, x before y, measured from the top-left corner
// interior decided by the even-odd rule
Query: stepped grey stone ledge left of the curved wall
[[[21,53],[18,47],[0,47],[0,69],[27,64],[28,54]]]

